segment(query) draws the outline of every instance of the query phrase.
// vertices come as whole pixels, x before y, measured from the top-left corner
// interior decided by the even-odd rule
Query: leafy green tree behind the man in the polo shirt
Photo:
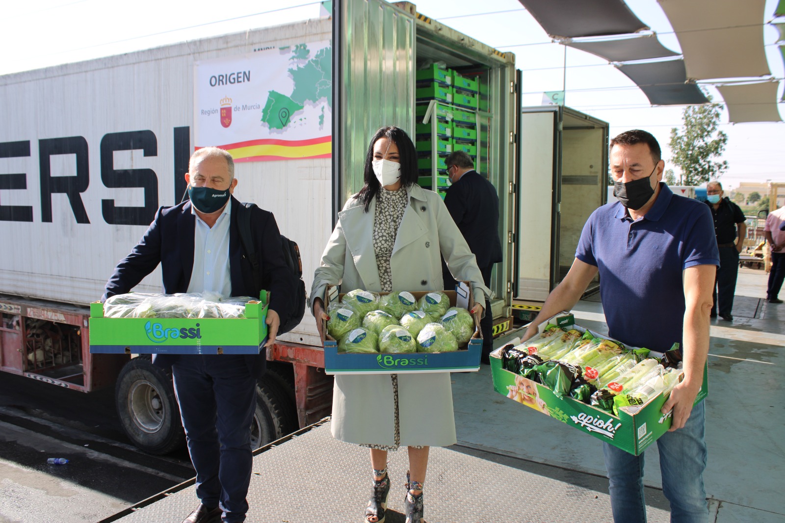
[[[711,97],[706,95],[709,101]],[[691,105],[682,112],[681,131],[670,130],[670,161],[681,170],[680,185],[700,185],[716,180],[728,170],[728,162],[718,162],[728,135],[718,130],[722,104]]]

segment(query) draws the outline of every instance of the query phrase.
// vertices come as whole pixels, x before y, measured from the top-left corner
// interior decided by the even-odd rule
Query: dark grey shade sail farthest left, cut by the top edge
[[[623,0],[520,0],[552,38],[625,35],[648,29]]]

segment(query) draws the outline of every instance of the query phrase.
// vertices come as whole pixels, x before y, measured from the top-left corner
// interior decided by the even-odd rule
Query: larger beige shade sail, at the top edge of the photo
[[[765,0],[658,0],[674,27],[692,80],[769,75]]]

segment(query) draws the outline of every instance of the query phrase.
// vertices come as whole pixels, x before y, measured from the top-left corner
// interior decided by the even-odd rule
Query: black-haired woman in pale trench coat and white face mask
[[[327,285],[341,291],[441,290],[441,258],[456,280],[471,282],[473,312],[482,313],[491,291],[474,254],[435,192],[416,184],[417,152],[407,134],[382,127],[368,148],[364,181],[338,214],[314,275],[311,307],[319,333]],[[365,521],[385,521],[389,493],[387,452],[409,450],[407,523],[422,521],[422,483],[430,446],[455,443],[450,374],[337,375],[333,436],[371,448],[374,486]]]

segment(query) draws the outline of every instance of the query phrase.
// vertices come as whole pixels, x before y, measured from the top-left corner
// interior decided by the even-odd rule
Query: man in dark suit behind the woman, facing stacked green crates
[[[474,163],[466,152],[456,151],[445,159],[451,187],[447,188],[444,204],[458,225],[469,249],[474,253],[477,266],[487,287],[491,286],[491,271],[502,261],[502,243],[498,240],[498,191],[474,170]],[[455,288],[455,279],[442,264],[444,288]],[[483,332],[483,363],[489,363],[493,350],[493,313],[491,302],[485,301],[485,316],[480,320]]]

